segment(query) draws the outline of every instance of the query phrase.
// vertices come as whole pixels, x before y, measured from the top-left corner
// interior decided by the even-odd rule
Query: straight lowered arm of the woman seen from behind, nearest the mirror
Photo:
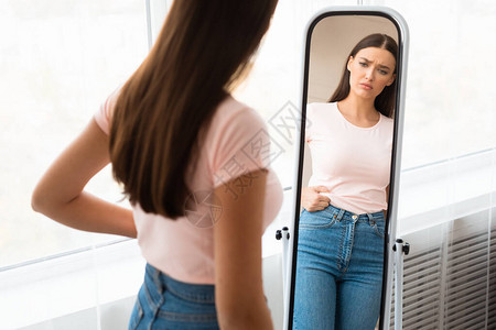
[[[236,179],[215,189],[215,205],[222,207],[214,226],[215,304],[222,329],[273,329],[261,268],[267,172],[252,172],[249,177],[255,178],[244,191],[237,191],[237,198],[226,189],[227,185],[234,187]],[[240,179],[250,180],[246,176]]]

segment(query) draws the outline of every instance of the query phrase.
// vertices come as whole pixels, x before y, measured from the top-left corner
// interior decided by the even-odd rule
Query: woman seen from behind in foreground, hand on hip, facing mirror
[[[249,147],[263,121],[230,91],[276,4],[176,0],[145,61],[33,193],[61,223],[138,238],[148,264],[130,329],[272,329],[261,234],[282,189]],[[84,191],[109,162],[132,210]]]

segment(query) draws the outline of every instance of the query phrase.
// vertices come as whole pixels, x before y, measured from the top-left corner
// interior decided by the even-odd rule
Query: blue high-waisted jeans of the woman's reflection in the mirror
[[[293,329],[373,330],[380,314],[385,218],[328,206],[300,215]]]

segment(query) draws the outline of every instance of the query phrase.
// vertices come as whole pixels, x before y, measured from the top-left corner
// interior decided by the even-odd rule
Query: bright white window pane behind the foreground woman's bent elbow
[[[31,210],[34,185],[148,52],[141,0],[1,1],[0,267],[119,239]],[[121,199],[109,168],[88,189]]]

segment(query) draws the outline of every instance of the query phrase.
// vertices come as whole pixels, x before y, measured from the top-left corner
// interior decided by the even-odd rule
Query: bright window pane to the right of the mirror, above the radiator
[[[402,167],[494,147],[489,54],[496,44],[487,33],[496,29],[495,3],[382,2],[399,11],[410,30]]]

